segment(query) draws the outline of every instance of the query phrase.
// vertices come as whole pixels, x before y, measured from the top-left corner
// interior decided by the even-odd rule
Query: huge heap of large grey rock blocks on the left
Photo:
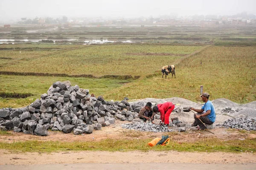
[[[107,102],[103,96],[91,96],[89,90],[71,86],[70,82],[55,82],[25,108],[0,109],[0,129],[47,136],[47,130],[75,134],[92,133],[115,122],[138,118],[141,106],[127,100]]]

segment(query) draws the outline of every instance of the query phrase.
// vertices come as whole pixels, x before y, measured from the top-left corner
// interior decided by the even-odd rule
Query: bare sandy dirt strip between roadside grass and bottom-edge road
[[[9,153],[0,150],[0,164],[29,165],[29,164],[118,164],[118,163],[195,163],[201,164],[202,159],[207,164],[241,164],[256,163],[253,153],[205,153],[205,152],[159,152],[159,151],[131,151],[131,152],[58,152],[58,153]],[[149,159],[154,158],[154,159]]]

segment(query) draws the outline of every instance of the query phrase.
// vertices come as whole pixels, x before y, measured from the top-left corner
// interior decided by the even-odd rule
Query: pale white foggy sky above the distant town
[[[256,0],[0,0],[0,21],[21,17],[132,18],[256,14]]]

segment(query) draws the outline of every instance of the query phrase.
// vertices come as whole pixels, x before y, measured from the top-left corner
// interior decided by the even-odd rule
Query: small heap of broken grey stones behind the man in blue
[[[228,119],[222,126],[239,130],[256,130],[256,120],[251,118]]]

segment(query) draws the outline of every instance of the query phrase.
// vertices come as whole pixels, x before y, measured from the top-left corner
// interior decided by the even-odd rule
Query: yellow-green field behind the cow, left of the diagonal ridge
[[[54,48],[54,45],[52,47]],[[79,49],[71,47],[63,48],[64,51],[61,52],[2,51],[0,56],[12,56],[12,58],[18,56],[23,59],[18,62],[11,61],[11,65],[3,65],[0,71],[92,74],[96,77],[106,74],[137,76],[145,72],[154,73],[163,65],[171,65],[183,55],[191,54],[201,48],[201,46],[142,44],[78,45]],[[140,55],[136,55],[137,53]],[[153,54],[146,55],[147,53]],[[159,53],[165,55],[158,55]]]

